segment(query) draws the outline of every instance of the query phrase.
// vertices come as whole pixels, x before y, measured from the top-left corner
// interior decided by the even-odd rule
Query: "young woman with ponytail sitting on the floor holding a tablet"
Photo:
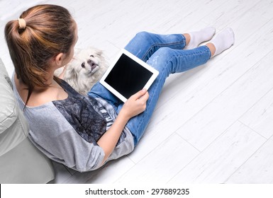
[[[15,67],[14,93],[30,124],[30,139],[52,160],[81,172],[130,153],[145,132],[167,76],[205,64],[233,45],[230,28],[216,37],[214,33],[205,28],[183,35],[135,35],[126,50],[160,75],[149,92],[141,90],[121,103],[100,83],[82,96],[54,76],[73,57],[77,24],[61,6],[29,8],[6,24],[5,35]],[[211,42],[198,47],[207,40]]]

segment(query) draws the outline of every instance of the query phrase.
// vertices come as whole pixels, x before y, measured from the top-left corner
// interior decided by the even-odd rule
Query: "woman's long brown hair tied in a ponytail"
[[[75,22],[66,8],[48,4],[28,8],[20,18],[26,27],[19,27],[18,20],[9,21],[5,36],[17,78],[28,86],[27,104],[35,86],[49,86],[45,76],[50,58],[69,53]]]

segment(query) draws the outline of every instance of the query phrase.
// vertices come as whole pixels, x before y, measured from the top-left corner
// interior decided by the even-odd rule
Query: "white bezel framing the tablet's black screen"
[[[128,99],[125,98],[123,95],[121,95],[121,93],[119,93],[118,91],[116,91],[115,88],[113,88],[111,85],[109,85],[105,81],[106,77],[111,72],[111,70],[113,69],[113,67],[116,65],[116,62],[118,62],[118,59],[120,59],[120,57],[121,57],[122,54],[126,54],[126,56],[130,57],[130,59],[133,59],[135,62],[137,62],[141,66],[145,67],[145,69],[147,69],[147,70],[149,70],[149,71],[152,72],[152,76],[149,78],[149,80],[147,81],[147,83],[144,86],[144,88],[147,89],[147,90],[150,88],[150,86],[152,85],[153,81],[155,81],[155,78],[157,78],[159,72],[156,69],[152,68],[152,66],[150,66],[147,63],[143,62],[143,60],[139,59],[138,57],[135,57],[135,55],[131,54],[127,50],[125,50],[125,49],[121,50],[121,52],[118,53],[118,56],[116,57],[116,59],[114,59],[113,63],[106,70],[104,76],[101,77],[101,80],[99,82],[101,83],[101,85],[103,85],[105,88],[107,88],[108,91],[111,91],[111,93],[113,93],[114,95],[116,95],[119,99],[121,99],[123,101],[123,103],[125,103]]]

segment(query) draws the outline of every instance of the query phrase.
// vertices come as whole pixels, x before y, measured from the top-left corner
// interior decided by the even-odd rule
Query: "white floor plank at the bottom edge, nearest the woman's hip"
[[[199,151],[173,134],[115,183],[166,183],[197,154]]]

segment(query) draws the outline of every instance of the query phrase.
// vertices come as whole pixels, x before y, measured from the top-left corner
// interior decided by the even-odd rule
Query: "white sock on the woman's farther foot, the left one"
[[[189,35],[191,36],[191,40],[189,41],[189,44],[186,45],[184,49],[185,50],[194,49],[195,47],[198,47],[201,42],[211,40],[214,34],[215,34],[215,28],[213,27],[208,27],[208,28],[199,30],[197,32],[189,33]]]

